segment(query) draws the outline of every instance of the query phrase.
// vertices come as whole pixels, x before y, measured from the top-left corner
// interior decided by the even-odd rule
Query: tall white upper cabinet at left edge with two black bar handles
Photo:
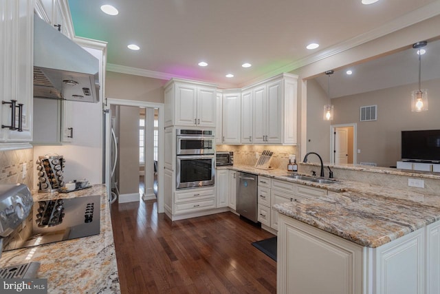
[[[0,142],[8,142],[0,147],[30,147],[23,143],[32,140],[34,1],[1,1],[0,39]]]

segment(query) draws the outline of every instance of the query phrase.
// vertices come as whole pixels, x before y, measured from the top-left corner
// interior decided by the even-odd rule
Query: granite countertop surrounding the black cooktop
[[[38,193],[34,201],[100,195],[100,234],[3,252],[0,267],[41,262],[47,293],[120,293],[109,202],[104,185],[70,193]]]

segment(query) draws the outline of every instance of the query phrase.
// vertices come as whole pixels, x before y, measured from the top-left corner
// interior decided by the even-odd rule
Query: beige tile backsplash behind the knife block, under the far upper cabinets
[[[216,145],[217,151],[234,151],[234,164],[236,165],[255,165],[256,152],[263,150],[274,152],[271,166],[274,169],[287,169],[289,154],[297,154],[296,146],[275,146],[275,145]],[[298,158],[296,158],[298,161]]]

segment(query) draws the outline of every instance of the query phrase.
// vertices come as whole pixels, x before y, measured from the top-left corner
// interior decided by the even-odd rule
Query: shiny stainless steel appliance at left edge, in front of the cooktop
[[[33,204],[26,185],[0,185],[0,236],[6,237],[19,227]]]

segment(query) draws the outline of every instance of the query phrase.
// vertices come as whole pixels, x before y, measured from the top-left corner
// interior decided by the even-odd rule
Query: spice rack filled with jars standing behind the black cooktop
[[[58,154],[39,156],[39,159],[36,160],[39,192],[55,192],[64,186],[64,163],[65,159]]]

